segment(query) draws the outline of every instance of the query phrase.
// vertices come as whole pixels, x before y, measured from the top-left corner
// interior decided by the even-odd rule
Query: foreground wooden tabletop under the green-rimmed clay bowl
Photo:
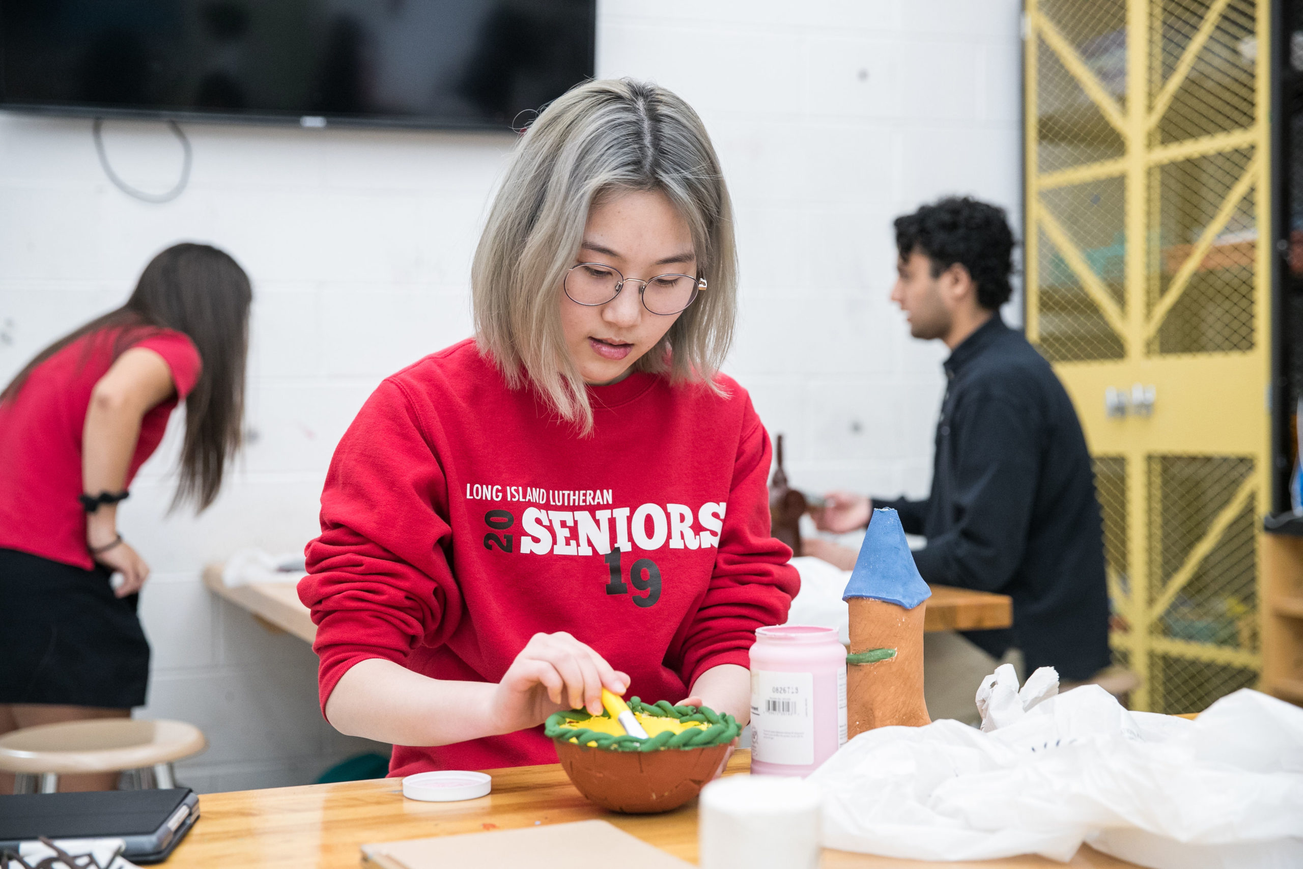
[[[726,774],[748,769],[751,753],[740,750],[728,762]],[[696,801],[667,814],[611,814],[585,800],[560,765],[489,773],[493,793],[465,803],[405,800],[397,779],[205,793],[199,797],[199,821],[165,865],[168,869],[357,869],[362,844],[588,818],[610,821],[644,842],[697,861]],[[825,869],[1031,869],[1065,864],[1029,855],[942,864],[825,851],[822,865]],[[1131,866],[1085,846],[1067,865],[1076,869]]]

